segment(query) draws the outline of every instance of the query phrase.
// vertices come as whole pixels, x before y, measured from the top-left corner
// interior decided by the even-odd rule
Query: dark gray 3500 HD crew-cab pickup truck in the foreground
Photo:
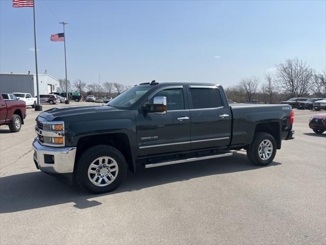
[[[127,169],[231,156],[273,161],[292,139],[289,105],[228,104],[220,85],[145,83],[104,106],[57,107],[36,118],[36,167],[71,174],[85,190],[112,191]]]

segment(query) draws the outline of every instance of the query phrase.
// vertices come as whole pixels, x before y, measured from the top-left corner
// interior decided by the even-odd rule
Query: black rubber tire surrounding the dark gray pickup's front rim
[[[106,186],[94,185],[88,176],[88,170],[91,163],[99,157],[113,158],[118,165],[118,174],[114,181]],[[95,145],[85,151],[77,160],[75,168],[76,181],[82,189],[92,193],[110,192],[116,189],[124,181],[127,174],[127,163],[124,156],[117,149],[110,145]],[[99,177],[98,177],[99,178]]]

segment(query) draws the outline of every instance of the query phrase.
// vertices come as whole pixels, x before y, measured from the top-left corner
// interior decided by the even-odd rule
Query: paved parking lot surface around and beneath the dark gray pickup
[[[295,139],[269,166],[238,152],[128,173],[93,195],[36,169],[29,108],[20,132],[0,127],[0,243],[325,244],[326,133],[308,127],[325,112],[294,113]]]

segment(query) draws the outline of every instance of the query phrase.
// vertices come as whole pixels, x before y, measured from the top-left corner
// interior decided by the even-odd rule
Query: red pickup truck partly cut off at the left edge
[[[0,125],[8,125],[11,132],[18,132],[24,124],[26,104],[21,100],[5,100],[0,93]]]

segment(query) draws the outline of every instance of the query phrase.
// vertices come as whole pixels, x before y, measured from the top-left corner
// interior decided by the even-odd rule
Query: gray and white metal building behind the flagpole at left
[[[61,92],[60,82],[51,75],[39,75],[39,91],[40,94]],[[0,92],[22,92],[36,96],[36,75],[0,73]]]

